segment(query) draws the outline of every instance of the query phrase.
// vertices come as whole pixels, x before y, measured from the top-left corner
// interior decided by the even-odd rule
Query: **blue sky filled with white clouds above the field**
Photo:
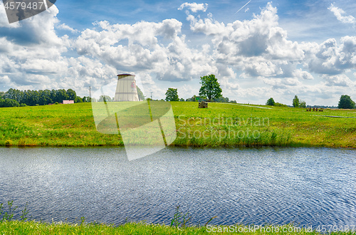
[[[58,0],[11,24],[0,4],[0,90],[83,97],[132,73],[147,97],[186,99],[214,74],[237,103],[337,106],[356,100],[355,32],[355,1]]]

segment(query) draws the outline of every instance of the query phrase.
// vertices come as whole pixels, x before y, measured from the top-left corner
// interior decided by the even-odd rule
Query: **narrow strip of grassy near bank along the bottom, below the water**
[[[355,231],[333,231],[332,226],[317,229],[298,229],[292,225],[284,226],[168,226],[162,224],[127,223],[120,226],[105,224],[46,224],[36,221],[2,221],[2,234],[356,234]],[[328,231],[330,229],[330,231]],[[336,229],[336,228],[335,228]],[[322,231],[325,230],[325,231]]]

